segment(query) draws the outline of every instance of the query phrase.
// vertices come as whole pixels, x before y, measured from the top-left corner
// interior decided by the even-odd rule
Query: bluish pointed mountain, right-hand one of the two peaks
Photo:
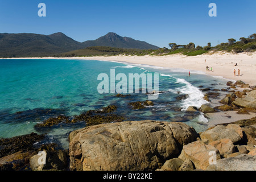
[[[158,49],[159,47],[148,44],[143,41],[134,40],[132,38],[122,37],[114,32],[101,36],[96,40],[88,40],[82,43],[85,47],[106,46],[117,48],[134,48],[134,49]]]

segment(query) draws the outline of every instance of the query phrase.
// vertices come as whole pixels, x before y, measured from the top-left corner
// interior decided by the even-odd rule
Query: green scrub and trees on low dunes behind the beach
[[[248,38],[240,38],[240,41],[230,38],[227,43],[218,44],[215,47],[211,46],[211,43],[207,43],[207,46],[195,47],[194,43],[189,43],[187,45],[178,45],[176,43],[170,43],[168,49],[166,47],[159,49],[128,49],[128,48],[114,48],[114,47],[104,47],[104,46],[94,46],[87,47],[85,49],[79,49],[76,51],[71,51],[67,53],[61,53],[60,55],[55,55],[56,57],[74,57],[74,56],[145,56],[145,55],[172,55],[176,53],[181,53],[187,56],[202,55],[207,52],[218,52],[226,51],[233,53],[240,52],[254,52],[256,51],[256,34],[248,36]]]

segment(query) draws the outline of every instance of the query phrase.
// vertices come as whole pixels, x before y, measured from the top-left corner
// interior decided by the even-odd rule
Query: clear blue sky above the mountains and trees
[[[210,3],[217,16],[209,16]],[[255,0],[0,0],[0,33],[63,32],[84,42],[115,32],[158,47],[216,46],[256,33],[255,7]]]

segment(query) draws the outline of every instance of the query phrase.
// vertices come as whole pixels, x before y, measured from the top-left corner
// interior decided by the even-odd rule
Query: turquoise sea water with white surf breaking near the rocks
[[[131,94],[118,98],[115,94],[99,94],[97,80],[100,73],[115,74],[159,73],[159,97],[154,106],[143,110],[132,110],[128,105],[133,101],[148,100],[147,94]],[[154,77],[154,76],[153,76]],[[117,81],[118,82],[118,81]],[[47,133],[48,142],[59,142],[68,148],[68,134],[81,127],[85,122],[51,127],[37,131],[36,123],[49,117],[64,114],[69,117],[87,110],[101,109],[108,105],[117,105],[117,114],[126,120],[155,119],[160,121],[182,121],[204,130],[207,119],[202,114],[185,117],[189,105],[200,107],[207,104],[198,86],[204,88],[226,88],[226,80],[210,77],[200,72],[181,69],[167,69],[150,65],[136,65],[97,60],[0,60],[0,137]],[[154,85],[154,84],[153,84]],[[177,101],[181,94],[189,98]],[[177,108],[181,111],[177,111]]]

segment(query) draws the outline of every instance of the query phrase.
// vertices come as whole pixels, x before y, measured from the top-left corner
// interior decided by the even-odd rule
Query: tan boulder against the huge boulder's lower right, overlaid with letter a
[[[216,154],[216,160],[221,158],[217,148],[197,140],[196,142],[183,146],[179,158],[183,161],[189,159],[195,165],[196,169],[205,170],[210,164],[209,159],[212,151]]]

